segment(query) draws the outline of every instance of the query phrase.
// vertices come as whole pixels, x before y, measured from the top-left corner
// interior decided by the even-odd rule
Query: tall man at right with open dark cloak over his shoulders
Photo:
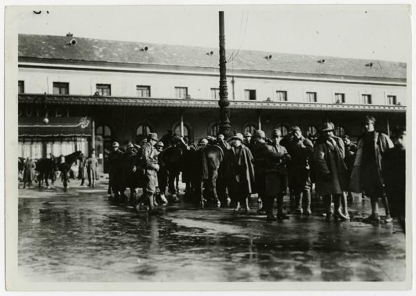
[[[361,122],[363,134],[358,139],[357,153],[352,168],[351,191],[370,197],[372,214],[363,220],[365,223],[380,222],[379,198],[382,198],[385,209],[385,222],[391,222],[390,209],[384,190],[383,171],[381,163],[385,152],[393,147],[387,134],[376,132],[376,119],[365,116]]]

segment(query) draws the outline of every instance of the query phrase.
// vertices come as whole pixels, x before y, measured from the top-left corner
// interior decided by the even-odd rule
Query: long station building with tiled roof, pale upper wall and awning
[[[112,141],[218,132],[218,49],[69,33],[19,35],[18,50],[20,157],[94,147],[107,171]],[[227,57],[233,131],[270,136],[298,125],[307,135],[331,121],[336,134],[356,139],[367,114],[388,134],[406,125],[406,63],[245,50]]]

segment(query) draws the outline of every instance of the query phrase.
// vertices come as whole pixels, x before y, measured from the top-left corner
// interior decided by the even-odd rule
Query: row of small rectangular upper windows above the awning
[[[24,81],[19,80],[19,94],[24,93]],[[53,82],[53,94],[69,94],[69,83],[68,82]],[[111,96],[111,85],[97,84],[96,95],[98,96]],[[137,85],[136,96],[140,98],[150,97],[150,86],[149,85]],[[256,101],[256,89],[245,89],[244,97],[246,101]],[[188,87],[175,87],[175,98],[189,98]],[[220,98],[220,89],[211,88],[211,99],[218,100]],[[287,102],[288,92],[287,91],[276,91],[276,101]],[[309,103],[317,103],[318,95],[316,92],[306,92],[306,101]],[[397,96],[387,96],[388,105],[397,105]],[[345,94],[336,93],[335,103],[345,103]],[[371,94],[361,95],[362,104],[372,104]]]

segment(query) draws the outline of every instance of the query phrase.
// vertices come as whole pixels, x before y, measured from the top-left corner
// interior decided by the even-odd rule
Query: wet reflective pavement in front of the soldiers
[[[399,223],[367,225],[370,200],[354,195],[354,216],[266,222],[184,202],[137,214],[96,188],[19,189],[19,273],[31,281],[404,281]],[[285,205],[288,200],[285,201]],[[381,209],[381,214],[384,210]]]

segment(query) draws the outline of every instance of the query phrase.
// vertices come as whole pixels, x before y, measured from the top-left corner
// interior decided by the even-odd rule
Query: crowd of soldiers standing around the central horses
[[[364,222],[381,220],[381,198],[385,222],[389,223],[392,216],[397,216],[404,227],[406,129],[395,130],[393,144],[387,134],[376,132],[375,123],[374,117],[364,117],[363,133],[358,137],[357,145],[347,135],[337,137],[333,123],[328,122],[322,125],[318,138],[313,141],[305,138],[299,127],[293,126],[284,137],[281,130],[273,130],[270,139],[262,130],[244,136],[236,133],[227,141],[220,134],[215,142],[212,137],[201,139],[195,148],[202,150],[213,143],[223,150],[220,175],[225,178],[227,193],[236,211],[249,211],[248,198],[257,193],[261,200],[259,214],[265,214],[267,220],[288,219],[283,210],[283,200],[289,189],[293,213],[309,216],[314,183],[316,193],[324,201],[326,220],[348,220],[347,195],[355,192],[365,193],[371,200],[372,214]],[[112,184],[116,182],[111,164],[123,153],[119,150],[119,143],[114,142],[112,147],[109,155],[110,194]],[[129,143],[126,153],[137,159],[136,147]],[[147,141],[142,143],[140,162],[132,163],[132,171],[140,170],[144,178],[144,193],[137,204],[147,202],[150,210],[155,207],[154,195],[161,185],[162,203],[167,202],[164,195],[166,184],[159,184],[161,181],[166,183],[166,171],[162,170],[163,163],[159,157],[163,151],[164,143],[157,139],[157,134],[150,133]],[[174,197],[177,201],[177,196]],[[276,215],[273,214],[275,199]]]

